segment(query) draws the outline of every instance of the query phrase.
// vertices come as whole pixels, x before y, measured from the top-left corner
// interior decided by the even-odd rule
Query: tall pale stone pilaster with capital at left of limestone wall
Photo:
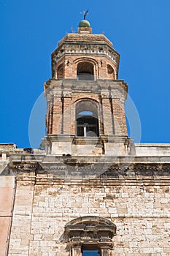
[[[12,216],[8,256],[26,256],[29,255],[30,241],[34,238],[31,235],[35,181],[34,165],[18,165],[15,171],[18,175],[16,176],[15,205]]]

